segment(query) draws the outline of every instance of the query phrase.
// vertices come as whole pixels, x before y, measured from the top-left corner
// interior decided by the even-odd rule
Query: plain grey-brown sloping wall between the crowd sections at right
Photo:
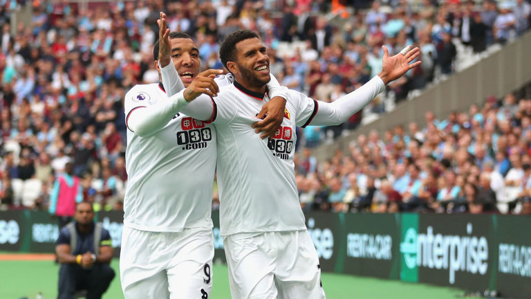
[[[423,127],[427,111],[433,111],[436,118],[447,118],[452,111],[465,111],[471,105],[485,102],[489,96],[501,98],[514,92],[531,82],[530,49],[531,31],[528,31],[500,51],[425,89],[413,100],[400,103],[378,120],[357,128],[354,134],[339,138],[333,144],[316,147],[313,154],[323,161],[331,158],[337,149],[348,152],[348,144],[359,134],[376,130],[381,136],[386,129],[395,125],[407,127],[411,122]]]

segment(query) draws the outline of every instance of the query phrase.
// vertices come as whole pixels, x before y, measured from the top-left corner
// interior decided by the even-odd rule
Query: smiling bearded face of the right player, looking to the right
[[[270,80],[269,56],[260,39],[244,39],[236,44],[236,81],[248,89],[264,89]]]

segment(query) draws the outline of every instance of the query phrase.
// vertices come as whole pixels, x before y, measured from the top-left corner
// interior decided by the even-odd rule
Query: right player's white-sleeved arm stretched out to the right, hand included
[[[410,69],[418,66],[421,62],[413,62],[420,55],[419,48],[403,54],[405,51],[389,57],[389,51],[384,46],[382,71],[362,87],[338,98],[334,102],[327,103],[317,101],[317,113],[310,125],[339,125],[349,117],[365,107],[378,93],[384,91],[385,85],[400,78]],[[405,49],[404,49],[405,50]]]

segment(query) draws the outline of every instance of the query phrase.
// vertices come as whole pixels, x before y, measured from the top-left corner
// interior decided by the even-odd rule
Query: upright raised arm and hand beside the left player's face
[[[179,74],[171,63],[171,40],[169,39],[169,29],[167,28],[166,14],[160,12],[160,19],[157,20],[158,30],[158,66],[162,74],[162,85],[166,90],[167,96],[173,96],[179,91],[185,89],[183,81],[180,80]]]

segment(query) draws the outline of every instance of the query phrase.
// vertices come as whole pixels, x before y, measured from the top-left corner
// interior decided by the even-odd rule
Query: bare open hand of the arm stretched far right
[[[384,48],[384,58],[382,71],[378,76],[382,78],[382,81],[384,81],[385,84],[402,77],[404,73],[422,63],[418,61],[410,64],[416,57],[418,57],[418,55],[420,55],[420,49],[418,47],[413,48],[413,50],[406,53],[406,55],[398,53],[392,57],[389,57],[389,50],[387,50],[386,46],[383,46],[382,48]]]

